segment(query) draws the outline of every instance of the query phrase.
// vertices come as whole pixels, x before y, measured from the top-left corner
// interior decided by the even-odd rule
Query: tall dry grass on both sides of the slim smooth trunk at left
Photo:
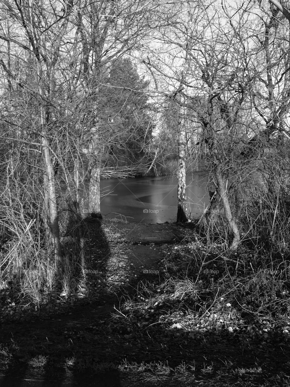
[[[29,302],[41,303],[55,291],[65,294],[84,291],[84,272],[80,259],[78,222],[65,204],[67,194],[58,188],[63,197],[59,209],[62,235],[70,235],[73,243],[63,245],[63,260],[56,266],[53,254],[46,243],[48,230],[44,226],[43,193],[31,181],[19,176],[2,180],[0,194],[0,287]],[[65,208],[66,206],[66,208]],[[0,246],[1,247],[1,246]]]

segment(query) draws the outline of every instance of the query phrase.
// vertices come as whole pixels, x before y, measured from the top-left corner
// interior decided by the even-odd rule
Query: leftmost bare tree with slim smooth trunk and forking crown
[[[34,2],[19,3],[15,1],[10,3],[4,0],[2,12],[6,12],[10,16],[13,27],[10,28],[10,31],[3,31],[0,39],[13,45],[15,53],[21,53],[24,62],[29,57],[32,65],[31,70],[36,79],[34,85],[28,85],[22,82],[22,74],[15,75],[3,59],[0,61],[10,82],[14,82],[15,85],[29,93],[38,104],[39,134],[44,161],[44,219],[48,229],[48,241],[58,264],[61,260],[60,232],[54,167],[51,145],[48,140],[48,123],[51,106],[55,107],[53,101],[55,67],[60,58],[60,48],[67,31],[72,3],[67,2],[59,9],[58,5],[51,5],[49,10],[44,8],[40,11]]]

